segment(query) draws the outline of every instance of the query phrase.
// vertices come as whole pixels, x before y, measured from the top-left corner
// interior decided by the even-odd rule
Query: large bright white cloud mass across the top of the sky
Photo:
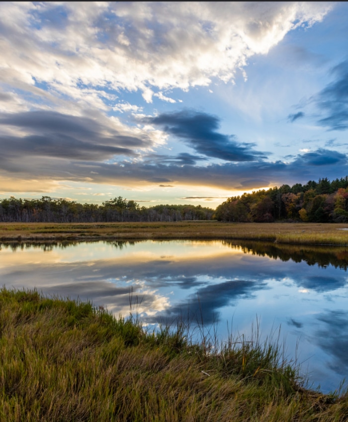
[[[231,81],[250,57],[267,54],[289,31],[321,21],[331,8],[320,2],[3,2],[0,81],[38,108],[45,91],[55,107],[69,108],[63,105],[69,98],[107,108],[110,89],[140,90],[147,102],[160,89],[159,97],[171,101],[162,90]]]

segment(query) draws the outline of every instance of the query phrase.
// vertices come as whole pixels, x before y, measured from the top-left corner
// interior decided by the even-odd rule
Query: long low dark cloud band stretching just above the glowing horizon
[[[62,159],[48,155],[31,156],[30,160],[26,160],[28,148],[24,148],[23,143],[19,142],[17,145],[7,143],[8,140],[5,141],[0,155],[0,174],[18,179],[50,178],[72,181],[88,179],[93,183],[106,184],[134,183],[137,186],[141,183],[172,186],[181,184],[249,190],[273,184],[280,186],[284,183],[289,185],[305,183],[308,180],[318,180],[323,174],[329,179],[348,174],[347,156],[326,149],[298,155],[290,163],[259,161],[182,166],[175,163],[159,163],[157,159],[154,162],[107,163],[101,161],[101,153],[98,157],[93,157],[94,160],[79,160],[78,157]],[[92,154],[92,148],[90,150]]]

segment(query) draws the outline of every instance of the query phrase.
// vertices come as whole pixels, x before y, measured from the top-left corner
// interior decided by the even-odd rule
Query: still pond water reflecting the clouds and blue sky
[[[259,322],[312,388],[348,375],[348,249],[226,241],[1,245],[0,285],[90,300],[144,324],[203,321],[220,339]],[[131,296],[130,296],[130,292]]]

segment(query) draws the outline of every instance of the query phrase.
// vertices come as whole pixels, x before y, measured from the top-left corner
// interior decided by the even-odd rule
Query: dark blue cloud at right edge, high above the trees
[[[319,124],[331,130],[348,129],[348,61],[333,69],[336,80],[324,88],[315,98],[317,105],[327,116]]]

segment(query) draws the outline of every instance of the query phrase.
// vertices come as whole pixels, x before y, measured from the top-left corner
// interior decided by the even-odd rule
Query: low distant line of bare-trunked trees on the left
[[[132,222],[209,220],[214,210],[200,205],[156,205],[140,207],[135,201],[117,197],[102,205],[79,204],[65,199],[0,200],[1,222]]]

